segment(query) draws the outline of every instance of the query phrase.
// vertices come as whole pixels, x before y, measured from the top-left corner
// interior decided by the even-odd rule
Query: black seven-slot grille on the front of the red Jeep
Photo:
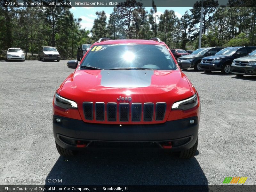
[[[106,107],[106,110],[105,110]],[[84,117],[86,120],[95,120],[97,121],[116,121],[117,119],[121,122],[128,122],[131,117],[132,122],[139,121],[153,121],[154,112],[155,120],[162,121],[164,120],[166,103],[103,103],[103,102],[84,102]],[[143,110],[143,116],[142,116]],[[105,111],[107,113],[105,114]],[[117,113],[118,111],[118,113]],[[131,113],[131,116],[130,116]],[[105,118],[106,116],[106,118]]]

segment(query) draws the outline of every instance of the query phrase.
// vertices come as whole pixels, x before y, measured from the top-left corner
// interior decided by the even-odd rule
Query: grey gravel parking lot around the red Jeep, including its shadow
[[[67,61],[0,61],[0,184],[256,185],[256,76],[193,69],[184,73],[201,99],[198,152],[183,160],[162,150],[87,150],[60,157],[52,134],[52,98],[74,69]],[[6,183],[5,178],[39,179]]]

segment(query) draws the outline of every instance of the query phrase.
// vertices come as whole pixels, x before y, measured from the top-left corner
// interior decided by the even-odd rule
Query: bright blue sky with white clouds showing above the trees
[[[70,9],[74,14],[74,18],[81,18],[82,28],[91,29],[94,19],[96,19],[96,11],[105,11],[107,15],[107,22],[109,19],[109,14],[113,12],[114,7],[72,7]],[[192,7],[157,7],[158,15],[163,14],[164,10],[173,10],[178,18],[185,14],[186,11],[189,12],[189,9]],[[149,12],[151,7],[146,7],[146,10]]]

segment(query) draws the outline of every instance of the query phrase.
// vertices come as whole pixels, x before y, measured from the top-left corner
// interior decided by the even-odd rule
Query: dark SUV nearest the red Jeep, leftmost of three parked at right
[[[197,49],[196,51],[192,52],[190,55],[185,55],[179,58],[179,60],[188,60],[191,63],[191,68],[194,68],[196,71],[199,71],[199,63],[203,57],[207,57],[210,55],[214,55],[219,52],[221,49],[225,47],[204,47]],[[178,62],[179,62],[178,60]]]

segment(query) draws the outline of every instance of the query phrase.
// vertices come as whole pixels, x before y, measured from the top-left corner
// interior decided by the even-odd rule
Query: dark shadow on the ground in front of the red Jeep
[[[208,191],[195,157],[179,159],[164,150],[87,149],[75,157],[60,156],[48,179],[62,183],[46,185],[203,185]]]

